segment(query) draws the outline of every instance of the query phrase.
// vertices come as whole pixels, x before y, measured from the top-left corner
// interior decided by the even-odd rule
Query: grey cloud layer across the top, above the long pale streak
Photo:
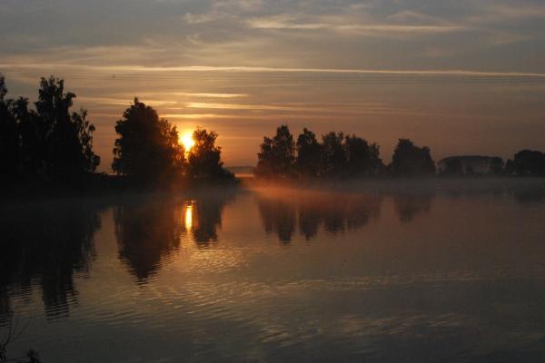
[[[545,72],[539,1],[6,1],[5,64]]]

